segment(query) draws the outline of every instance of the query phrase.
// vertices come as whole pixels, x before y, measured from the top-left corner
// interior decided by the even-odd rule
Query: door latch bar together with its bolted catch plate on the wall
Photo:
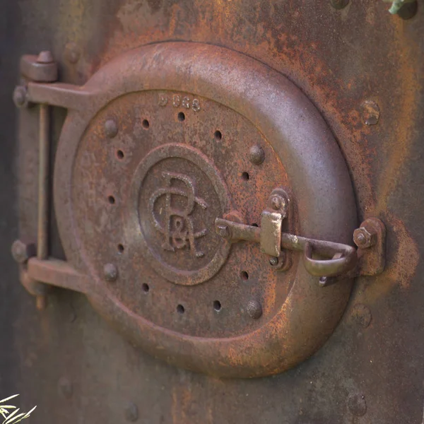
[[[217,218],[216,232],[231,242],[257,242],[261,245],[261,252],[271,257],[280,257],[283,249],[303,252],[305,268],[313,276],[322,277],[322,286],[329,285],[326,277],[340,276],[355,269],[358,260],[357,275],[382,273],[386,232],[381,220],[370,218],[355,230],[354,241],[360,247],[357,251],[349,245],[282,232],[283,220],[288,216],[288,204],[286,192],[274,189],[267,208],[262,212],[260,228]]]

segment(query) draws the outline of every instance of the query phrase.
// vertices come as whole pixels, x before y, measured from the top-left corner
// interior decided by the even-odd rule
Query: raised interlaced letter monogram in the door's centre
[[[192,213],[199,205],[206,209],[208,205],[204,199],[196,196],[196,186],[194,181],[184,174],[175,172],[162,172],[165,182],[165,187],[157,189],[148,201],[149,216],[154,227],[158,232],[164,235],[162,248],[170,252],[175,252],[175,249],[183,249],[187,245],[193,257],[203,257],[204,253],[196,249],[195,240],[206,235],[206,228],[196,231]],[[182,182],[178,186],[172,185],[173,182]],[[160,209],[160,216],[163,219],[158,220],[155,214],[155,204],[158,199],[165,196],[165,206]],[[177,208],[173,206],[172,199],[184,199],[184,206]],[[178,202],[179,205],[181,202]],[[160,222],[162,221],[162,222]]]

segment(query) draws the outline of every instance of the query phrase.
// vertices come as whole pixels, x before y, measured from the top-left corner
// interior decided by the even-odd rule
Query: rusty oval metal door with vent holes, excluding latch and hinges
[[[346,165],[300,90],[254,59],[178,42],[123,54],[86,89],[90,108],[69,112],[59,141],[54,202],[94,307],[153,355],[214,375],[281,372],[322,346],[351,281],[319,288],[298,255],[276,271],[259,245],[214,230],[223,217],[257,225],[286,187],[291,231],[351,242]]]

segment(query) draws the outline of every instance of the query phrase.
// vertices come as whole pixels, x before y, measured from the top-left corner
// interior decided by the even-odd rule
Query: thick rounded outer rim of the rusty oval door
[[[302,235],[351,243],[356,211],[346,163],[305,95],[250,57],[211,45],[170,42],[141,47],[111,61],[81,88],[81,93],[93,93],[85,110],[69,111],[57,151],[54,204],[66,257],[78,271],[94,275],[73,232],[71,177],[79,140],[101,107],[142,90],[196,93],[247,117],[283,160],[298,199]],[[105,318],[153,355],[212,375],[259,377],[287,370],[322,346],[343,313],[351,283],[322,290],[299,265],[281,309],[257,331],[231,338],[201,338],[163,329],[105,293],[97,278],[86,289]]]

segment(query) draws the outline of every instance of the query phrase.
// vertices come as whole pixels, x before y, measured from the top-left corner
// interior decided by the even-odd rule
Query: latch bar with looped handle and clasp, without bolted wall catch
[[[285,190],[274,189],[261,214],[260,227],[217,218],[216,232],[231,242],[259,243],[261,252],[271,258],[281,257],[283,249],[303,252],[305,268],[313,276],[322,277],[322,285],[326,285],[326,277],[339,276],[355,268],[358,255],[354,247],[283,232],[288,206],[289,197]]]

